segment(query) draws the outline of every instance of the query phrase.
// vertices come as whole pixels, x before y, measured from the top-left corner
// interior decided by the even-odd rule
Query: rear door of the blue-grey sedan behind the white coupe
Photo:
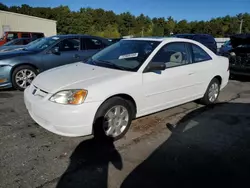
[[[82,61],[104,48],[102,41],[94,37],[83,37],[81,43],[82,47],[78,55]]]

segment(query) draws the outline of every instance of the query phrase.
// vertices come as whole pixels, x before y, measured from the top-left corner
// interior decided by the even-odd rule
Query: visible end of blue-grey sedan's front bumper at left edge
[[[10,88],[12,87],[11,83],[11,66],[5,65],[1,66],[0,65],[0,88]]]

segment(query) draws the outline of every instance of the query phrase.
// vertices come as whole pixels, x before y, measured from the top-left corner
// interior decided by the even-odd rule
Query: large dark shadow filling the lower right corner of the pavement
[[[186,115],[122,188],[245,187],[250,178],[250,105],[224,103]]]

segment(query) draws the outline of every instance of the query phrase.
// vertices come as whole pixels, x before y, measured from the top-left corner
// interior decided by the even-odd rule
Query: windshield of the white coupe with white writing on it
[[[121,40],[85,63],[136,72],[159,44],[158,41]]]

